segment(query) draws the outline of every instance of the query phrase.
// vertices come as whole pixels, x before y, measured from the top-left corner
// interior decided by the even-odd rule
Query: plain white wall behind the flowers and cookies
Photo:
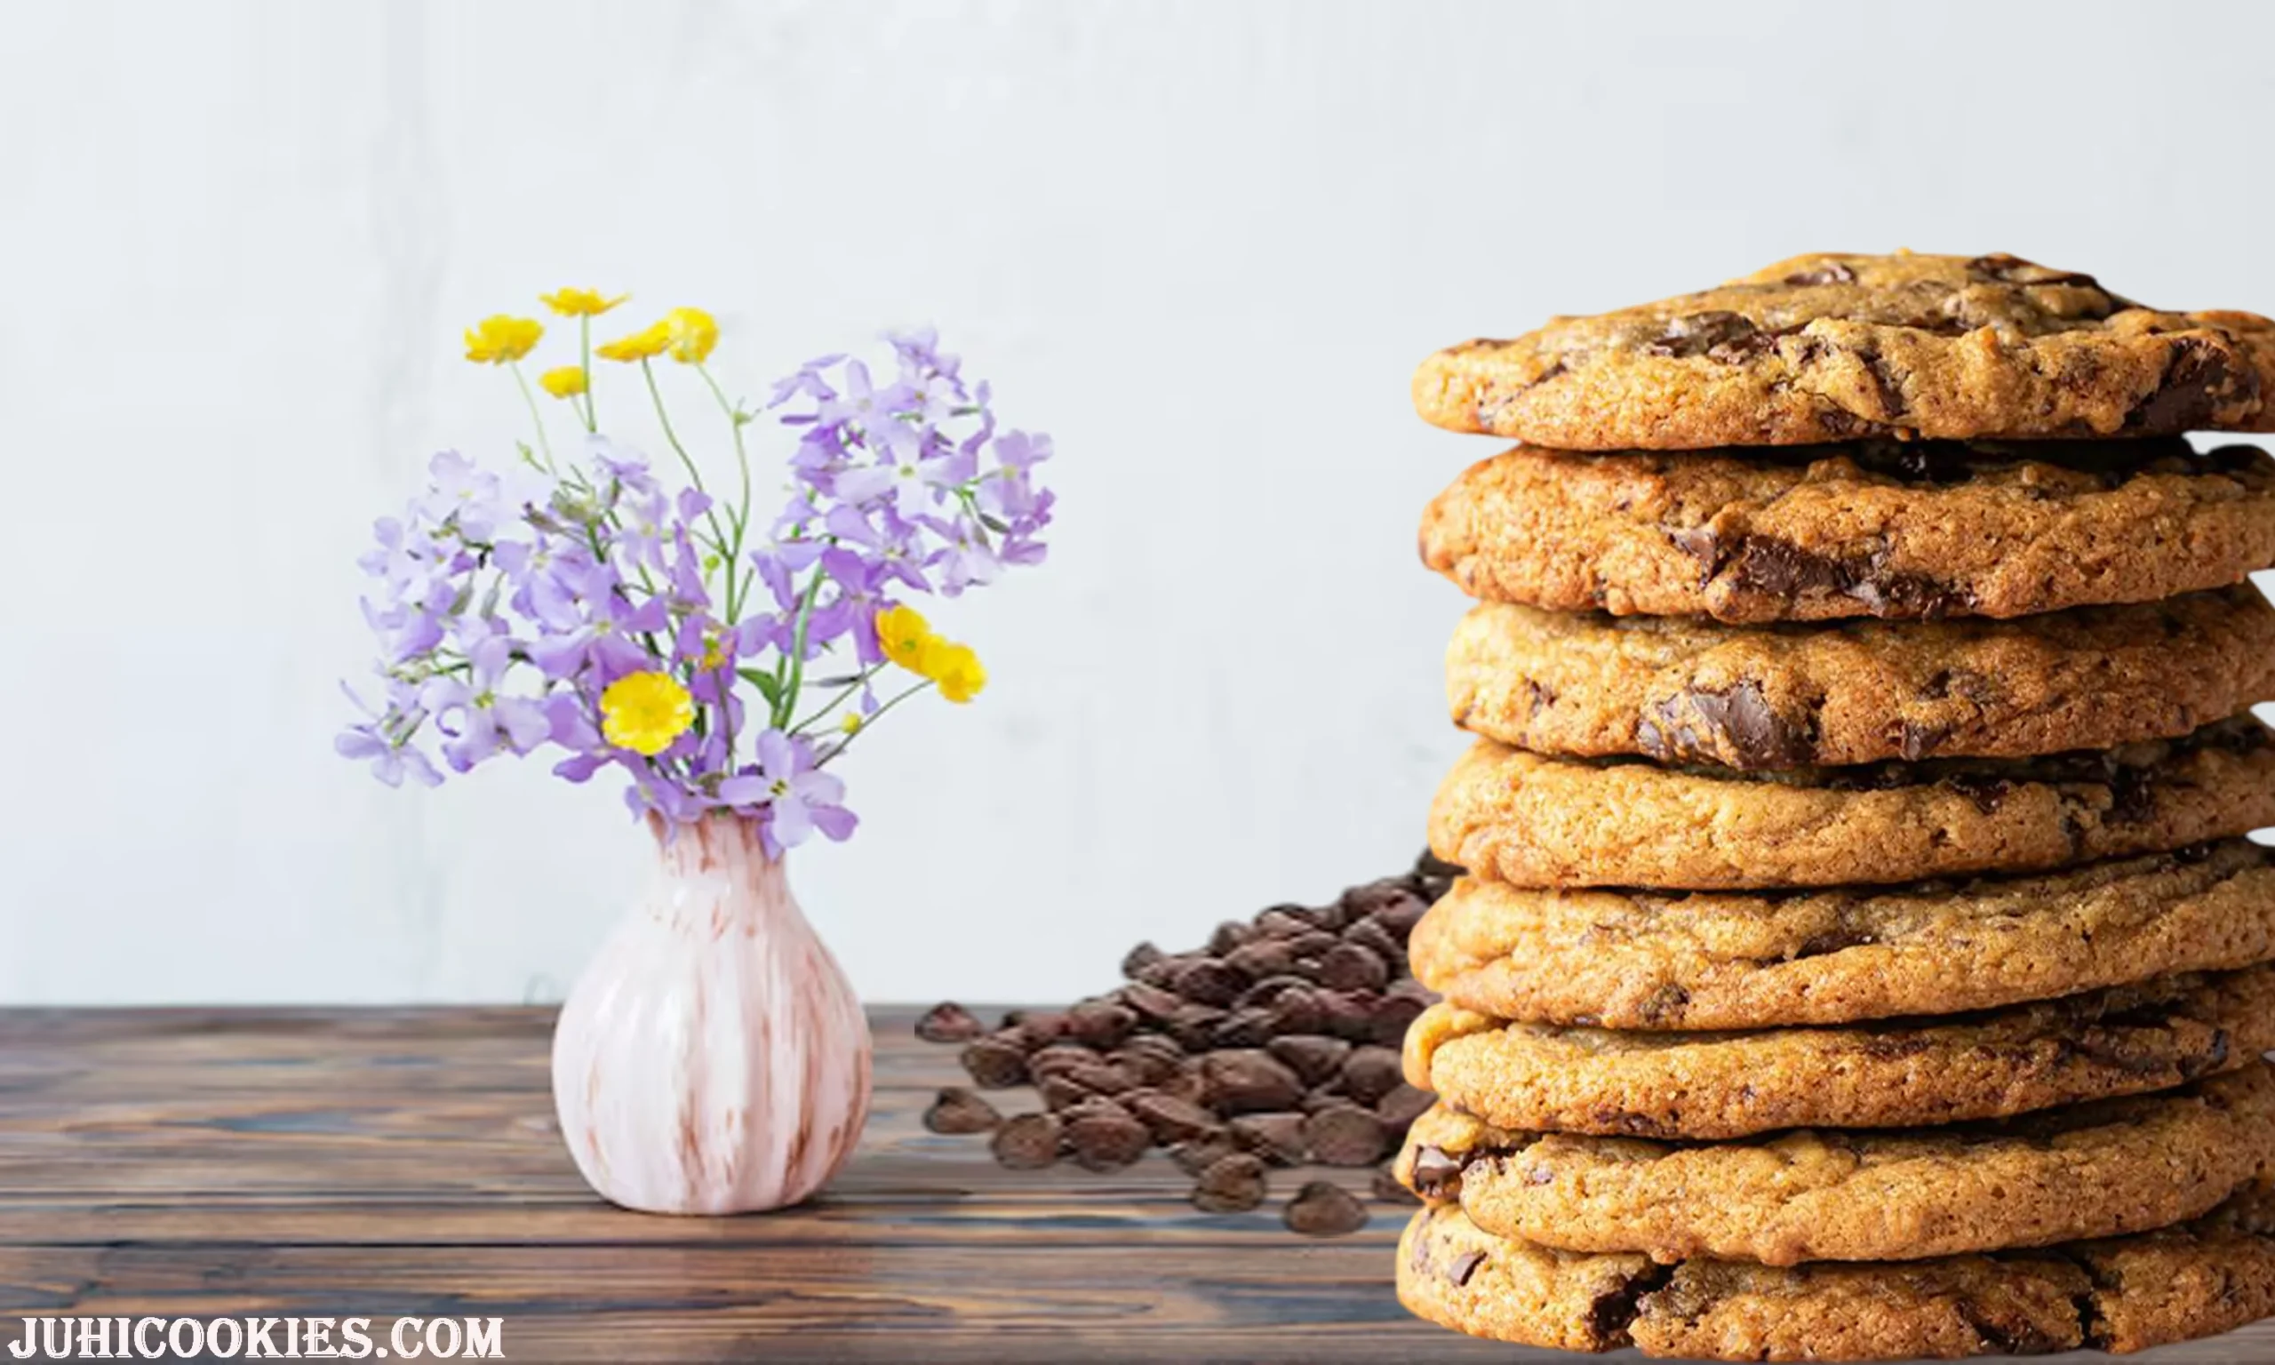
[[[796,883],[871,999],[1072,999],[1404,864],[1458,739],[1426,350],[1797,250],[2275,312],[2275,5],[0,2],[0,1001],[560,994],[648,851],[332,758],[353,566],[498,455],[457,330],[710,305],[744,387],[937,321],[1058,437],[992,667]],[[628,412],[628,400],[614,403]],[[612,787],[612,785],[610,785]]]

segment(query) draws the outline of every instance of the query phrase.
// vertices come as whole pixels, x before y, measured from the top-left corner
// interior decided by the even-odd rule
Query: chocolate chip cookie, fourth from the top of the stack
[[[1527,887],[1827,887],[2034,871],[2275,824],[2250,714],[2038,758],[1738,771],[1542,758],[1481,739],[1438,787],[1431,849]]]

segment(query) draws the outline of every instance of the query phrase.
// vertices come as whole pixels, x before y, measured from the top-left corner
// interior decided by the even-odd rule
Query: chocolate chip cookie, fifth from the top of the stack
[[[1829,892],[1554,892],[1465,878],[1408,940],[1451,1003],[1533,1024],[1770,1028],[1950,1015],[2275,958],[2248,839],[2052,876]]]

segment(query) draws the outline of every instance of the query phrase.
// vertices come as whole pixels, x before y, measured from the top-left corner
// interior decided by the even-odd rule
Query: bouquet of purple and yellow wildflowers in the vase
[[[814,359],[753,412],[708,369],[719,328],[703,309],[596,348],[592,318],[621,298],[544,303],[578,323],[578,362],[537,384],[576,416],[580,450],[555,455],[521,371],[544,328],[494,316],[469,330],[466,359],[512,371],[535,444],[505,469],[435,455],[425,491],[378,521],[362,557],[378,580],[364,598],[378,703],[348,689],[366,719],[339,753],[382,783],[435,785],[430,746],[460,774],[553,746],[573,783],[623,769],[632,812],[667,828],[733,812],[776,855],[814,830],[844,839],[855,819],[828,764],[919,692],[969,703],[985,687],[978,655],[908,601],[1042,562],[1051,494],[1033,471],[1049,437],[996,430],[987,384],[967,384],[933,332],[887,337],[890,375]],[[637,366],[685,485],[603,435],[594,357]],[[662,359],[717,400],[735,457],[719,491],[664,405]],[[796,437],[771,516],[753,512],[762,414]]]

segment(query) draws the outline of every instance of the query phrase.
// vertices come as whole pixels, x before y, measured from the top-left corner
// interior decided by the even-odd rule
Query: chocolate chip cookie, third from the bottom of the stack
[[[1511,1024],[1436,1003],[1406,1081],[1499,1128],[1749,1138],[1993,1119],[2168,1090],[2275,1049],[2275,967],[1959,1017],[1749,1033]]]

